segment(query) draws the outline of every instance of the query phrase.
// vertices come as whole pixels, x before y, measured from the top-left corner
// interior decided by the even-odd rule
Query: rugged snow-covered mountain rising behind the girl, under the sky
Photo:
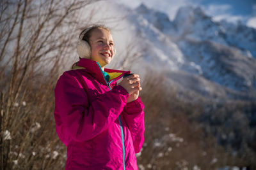
[[[174,20],[141,4],[129,22],[147,46],[144,59],[183,91],[206,97],[256,99],[256,30],[214,22],[184,6]]]

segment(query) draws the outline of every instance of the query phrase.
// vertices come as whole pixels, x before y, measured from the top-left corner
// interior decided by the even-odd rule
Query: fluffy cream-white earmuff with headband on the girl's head
[[[90,59],[91,57],[91,46],[87,41],[83,40],[84,34],[88,32],[91,28],[85,29],[81,35],[79,36],[78,43],[77,43],[77,53],[79,57],[84,59]]]

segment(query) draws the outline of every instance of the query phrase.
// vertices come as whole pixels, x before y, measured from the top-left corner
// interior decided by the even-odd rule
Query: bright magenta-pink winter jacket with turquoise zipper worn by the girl
[[[63,73],[54,90],[66,169],[138,169],[135,153],[144,141],[144,106],[140,97],[126,103],[129,93],[116,85],[130,71],[105,69],[112,75],[107,83],[97,62],[80,59],[77,66]]]

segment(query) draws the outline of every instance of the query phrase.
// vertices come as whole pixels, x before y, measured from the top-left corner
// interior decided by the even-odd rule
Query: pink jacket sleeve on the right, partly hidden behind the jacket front
[[[135,153],[140,152],[144,141],[144,105],[140,97],[136,101],[127,103],[124,107],[123,116],[131,131]]]

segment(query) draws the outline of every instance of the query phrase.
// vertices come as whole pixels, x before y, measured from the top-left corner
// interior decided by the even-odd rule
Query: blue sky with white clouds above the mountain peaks
[[[175,17],[180,6],[191,4],[201,6],[205,13],[213,20],[227,20],[228,22],[241,21],[249,27],[256,29],[256,0],[116,0],[130,8],[136,8],[144,3],[149,8],[154,8],[167,13],[171,20]]]

